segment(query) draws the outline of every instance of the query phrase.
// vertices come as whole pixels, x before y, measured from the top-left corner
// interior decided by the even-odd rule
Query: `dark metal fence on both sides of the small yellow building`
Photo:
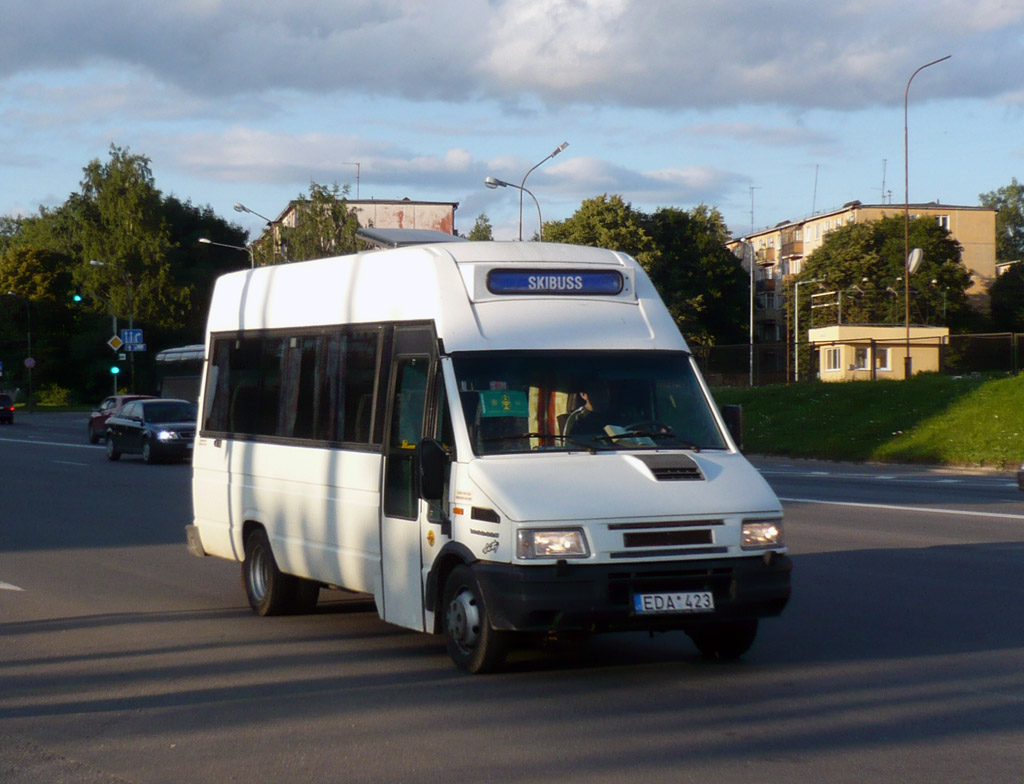
[[[934,345],[934,342],[929,344]],[[820,349],[807,342],[797,347],[788,343],[755,343],[753,350],[746,343],[691,348],[712,386],[765,386],[818,378]],[[1022,371],[1022,333],[950,335],[939,347],[940,373],[1017,374]]]

